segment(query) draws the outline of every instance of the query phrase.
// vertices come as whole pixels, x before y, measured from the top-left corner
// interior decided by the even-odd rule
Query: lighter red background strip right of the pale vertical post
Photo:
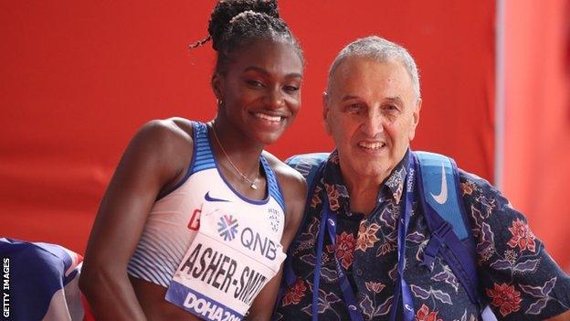
[[[570,272],[570,1],[506,2],[503,191]]]

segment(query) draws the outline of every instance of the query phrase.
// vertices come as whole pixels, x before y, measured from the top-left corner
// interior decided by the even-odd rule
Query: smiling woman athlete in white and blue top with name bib
[[[306,186],[263,148],[299,111],[301,48],[274,0],[220,1],[208,32],[216,118],[145,124],[101,200],[79,281],[98,319],[272,312]]]

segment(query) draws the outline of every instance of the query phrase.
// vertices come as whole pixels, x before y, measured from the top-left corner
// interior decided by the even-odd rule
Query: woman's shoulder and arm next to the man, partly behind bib
[[[285,229],[281,236],[281,245],[283,246],[283,251],[286,252],[297,234],[304,214],[307,184],[301,174],[290,166],[281,163],[268,153],[264,153],[264,156],[268,158],[269,164],[272,164],[272,167],[275,169],[283,191],[283,198],[285,198],[285,209],[287,212],[285,214]],[[249,308],[248,320],[269,320],[277,300],[282,273],[283,264],[281,264],[279,273],[263,287],[253,301],[251,308]]]

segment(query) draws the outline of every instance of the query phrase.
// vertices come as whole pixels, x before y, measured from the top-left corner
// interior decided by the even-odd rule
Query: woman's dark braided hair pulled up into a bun
[[[280,18],[277,0],[220,0],[210,16],[208,33],[190,48],[212,40],[217,51],[216,73],[226,73],[233,55],[262,38],[289,42],[303,60],[299,42]]]

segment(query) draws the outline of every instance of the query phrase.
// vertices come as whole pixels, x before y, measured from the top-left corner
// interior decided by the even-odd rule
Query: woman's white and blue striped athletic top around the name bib
[[[268,196],[263,200],[245,198],[220,173],[206,124],[194,122],[193,129],[194,153],[188,172],[174,190],[159,195],[127,268],[130,275],[164,287],[170,284],[194,240],[206,203],[236,204],[236,209],[247,210],[245,217],[251,219],[250,224],[275,233],[278,241],[284,228],[285,204],[267,160],[259,158],[267,177]],[[230,233],[220,227],[221,236],[224,232]]]

